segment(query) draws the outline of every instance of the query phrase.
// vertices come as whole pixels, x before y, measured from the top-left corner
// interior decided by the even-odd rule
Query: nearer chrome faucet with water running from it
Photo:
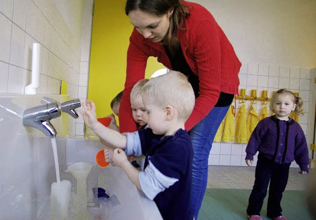
[[[22,123],[39,129],[48,137],[55,137],[57,132],[50,120],[61,115],[58,102],[37,106],[23,112]]]

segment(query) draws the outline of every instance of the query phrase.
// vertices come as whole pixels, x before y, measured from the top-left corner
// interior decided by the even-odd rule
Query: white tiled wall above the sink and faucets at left
[[[38,42],[38,94],[59,94],[64,80],[71,99],[85,99],[92,5],[83,0],[82,35],[74,36],[54,0],[0,0],[0,93],[24,94],[31,82],[32,44]],[[69,119],[69,135],[83,135],[82,120]]]

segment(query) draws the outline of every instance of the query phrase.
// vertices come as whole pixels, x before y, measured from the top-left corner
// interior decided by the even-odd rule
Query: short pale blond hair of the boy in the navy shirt
[[[142,89],[156,106],[172,106],[178,112],[178,120],[185,122],[193,111],[195,95],[187,76],[177,71],[151,78]]]

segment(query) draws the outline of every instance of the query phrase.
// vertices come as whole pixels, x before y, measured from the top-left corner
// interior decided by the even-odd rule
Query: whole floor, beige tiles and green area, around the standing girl
[[[316,171],[311,171],[316,172]],[[207,189],[198,220],[246,220],[246,207],[255,176],[255,167],[209,166]],[[304,187],[309,179],[299,168],[290,168],[281,206],[289,220],[312,220],[307,210]],[[267,197],[261,216],[267,220]]]

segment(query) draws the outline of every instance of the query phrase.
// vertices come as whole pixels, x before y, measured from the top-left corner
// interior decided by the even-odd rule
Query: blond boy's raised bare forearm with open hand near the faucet
[[[108,146],[119,147],[125,149],[126,136],[120,134],[118,131],[105,127],[97,120],[95,105],[91,100],[86,100],[82,103],[83,111],[80,113],[85,124],[92,129],[92,131],[103,140],[102,143]]]

